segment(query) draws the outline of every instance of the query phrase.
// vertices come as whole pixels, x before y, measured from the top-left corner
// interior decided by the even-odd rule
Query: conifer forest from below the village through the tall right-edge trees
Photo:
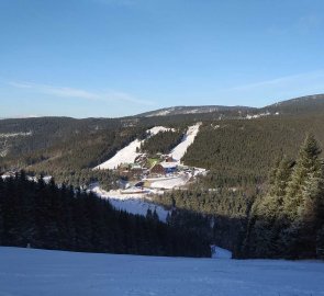
[[[156,196],[176,207],[177,225],[200,224],[211,241],[236,258],[324,259],[324,161],[314,136],[302,144],[297,160],[282,156],[265,189],[245,186],[187,191]],[[194,214],[195,213],[195,214]],[[178,214],[179,216],[179,214]],[[199,232],[199,230],[197,230]]]

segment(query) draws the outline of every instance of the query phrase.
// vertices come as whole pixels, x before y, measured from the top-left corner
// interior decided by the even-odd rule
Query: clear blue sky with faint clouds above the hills
[[[0,0],[0,117],[323,92],[323,0]]]

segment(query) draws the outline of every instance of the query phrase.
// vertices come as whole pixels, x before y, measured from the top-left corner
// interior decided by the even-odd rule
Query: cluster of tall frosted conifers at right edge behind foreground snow
[[[324,163],[312,135],[297,160],[283,157],[256,200],[244,254],[256,258],[324,258]]]

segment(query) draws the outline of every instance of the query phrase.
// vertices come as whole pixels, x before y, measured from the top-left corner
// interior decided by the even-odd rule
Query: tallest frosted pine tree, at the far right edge
[[[323,196],[323,166],[315,138],[308,135],[287,189],[280,235],[282,252],[292,258],[312,258],[316,253],[319,201]]]

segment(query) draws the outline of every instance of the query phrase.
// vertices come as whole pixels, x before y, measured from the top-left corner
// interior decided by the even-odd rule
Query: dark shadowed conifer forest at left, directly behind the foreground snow
[[[85,252],[209,257],[206,238],[114,209],[91,193],[42,179],[0,178],[0,244]]]

